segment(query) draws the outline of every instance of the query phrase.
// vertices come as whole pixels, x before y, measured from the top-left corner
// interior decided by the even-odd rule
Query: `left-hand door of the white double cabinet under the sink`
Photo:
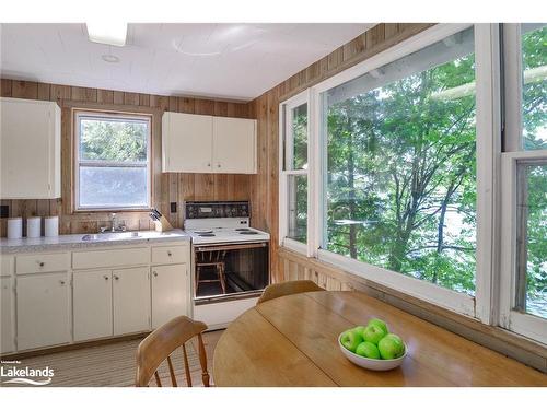
[[[112,271],[73,272],[74,341],[113,335]]]

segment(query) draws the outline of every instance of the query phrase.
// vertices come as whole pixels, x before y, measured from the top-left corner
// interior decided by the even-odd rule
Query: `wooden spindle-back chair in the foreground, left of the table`
[[[186,354],[185,343],[193,337],[198,337],[199,344],[199,363],[201,365],[201,378],[203,386],[209,387],[209,373],[207,372],[207,354],[203,347],[201,332],[207,330],[207,325],[201,321],[194,321],[186,316],[178,316],[171,319],[165,325],[152,331],[144,340],[142,340],[137,349],[137,377],[135,385],[137,387],[148,387],[152,376],[155,377],[155,383],[162,387],[158,367],[167,360],[167,365],[171,375],[173,387],[177,387],[171,353],[177,348],[183,348],[184,370],[188,387],[191,387],[190,368],[188,365],[188,356]]]

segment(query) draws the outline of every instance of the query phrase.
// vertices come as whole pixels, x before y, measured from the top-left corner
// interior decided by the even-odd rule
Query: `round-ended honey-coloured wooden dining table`
[[[405,340],[392,371],[351,363],[338,336],[372,317]],[[217,386],[547,386],[547,375],[361,292],[310,292],[264,302],[223,332]]]

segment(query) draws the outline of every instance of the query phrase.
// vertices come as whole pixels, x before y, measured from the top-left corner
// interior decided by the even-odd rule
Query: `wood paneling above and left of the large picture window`
[[[253,224],[271,234],[271,274],[283,280],[278,267],[279,103],[371,56],[400,43],[432,24],[377,24],[351,42],[295,73],[253,101],[258,119],[258,174],[252,176]]]

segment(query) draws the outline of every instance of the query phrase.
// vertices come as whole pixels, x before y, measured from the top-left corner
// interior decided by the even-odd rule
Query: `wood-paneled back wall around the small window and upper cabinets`
[[[255,118],[254,106],[212,99],[126,93],[31,81],[1,80],[1,96],[55,101],[61,107],[61,185],[59,200],[1,200],[10,207],[10,216],[60,215],[60,233],[97,232],[108,225],[106,212],[72,213],[72,108],[142,113],[152,116],[152,189],[153,204],[174,226],[182,226],[184,200],[248,200],[251,176],[234,174],[161,173],[161,116],[164,110]],[[177,212],[170,212],[177,202]],[[129,230],[151,229],[148,212],[119,212]],[[5,220],[0,222],[0,236],[5,236]]]

